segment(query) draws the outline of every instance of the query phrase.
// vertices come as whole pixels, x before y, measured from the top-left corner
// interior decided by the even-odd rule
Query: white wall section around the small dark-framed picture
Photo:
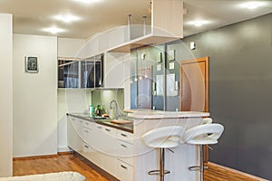
[[[39,72],[24,71],[24,56]],[[57,153],[57,38],[14,34],[14,157]]]

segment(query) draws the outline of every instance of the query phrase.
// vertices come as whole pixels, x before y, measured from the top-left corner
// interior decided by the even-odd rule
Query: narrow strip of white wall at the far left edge
[[[13,174],[13,25],[12,14],[0,14],[0,177]]]

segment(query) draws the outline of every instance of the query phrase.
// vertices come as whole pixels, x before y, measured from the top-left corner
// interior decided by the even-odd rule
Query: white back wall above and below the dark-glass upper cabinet
[[[84,39],[58,38],[58,57],[85,58]],[[67,112],[83,112],[90,104],[90,93],[83,90],[58,90],[58,152],[67,148]]]

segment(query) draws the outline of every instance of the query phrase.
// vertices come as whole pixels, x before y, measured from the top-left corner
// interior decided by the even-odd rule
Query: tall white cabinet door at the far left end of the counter
[[[67,117],[67,138],[68,147],[75,151],[83,150],[82,120],[73,117]]]

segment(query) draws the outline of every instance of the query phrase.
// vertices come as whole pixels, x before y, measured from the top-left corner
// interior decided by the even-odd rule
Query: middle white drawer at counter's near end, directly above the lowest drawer
[[[117,157],[130,166],[133,166],[133,145],[118,139]]]

